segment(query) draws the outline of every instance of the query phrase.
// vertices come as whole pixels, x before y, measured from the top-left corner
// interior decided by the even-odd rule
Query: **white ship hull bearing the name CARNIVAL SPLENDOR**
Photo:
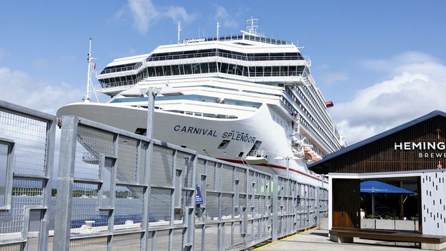
[[[305,160],[290,160],[286,167],[283,156],[293,156],[291,131],[285,132],[285,128],[272,120],[270,109],[263,104],[253,116],[245,119],[209,119],[155,110],[154,138],[242,165],[249,164],[239,157],[240,152],[246,156],[255,141],[261,141],[259,150],[267,153],[266,163],[254,161],[250,167],[320,186],[322,181],[308,173]],[[58,116],[61,115],[75,115],[130,132],[145,129],[147,123],[147,109],[114,104],[70,104],[58,110]],[[218,148],[225,139],[230,141],[227,147]]]

